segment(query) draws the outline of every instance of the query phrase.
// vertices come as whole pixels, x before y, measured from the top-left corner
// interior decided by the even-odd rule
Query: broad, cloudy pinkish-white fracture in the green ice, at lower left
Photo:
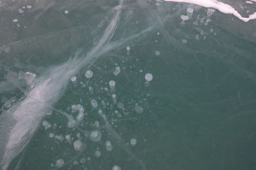
[[[49,110],[49,106],[60,99],[63,88],[76,72],[77,70],[70,62],[49,69],[38,79],[34,89],[22,102],[1,114],[0,166],[3,170],[8,169],[13,158],[28,144],[42,117]],[[61,76],[63,73],[65,76]]]

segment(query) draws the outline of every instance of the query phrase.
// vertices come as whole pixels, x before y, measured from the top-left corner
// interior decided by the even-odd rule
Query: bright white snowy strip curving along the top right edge
[[[216,10],[221,11],[222,13],[229,13],[244,22],[248,22],[249,20],[256,19],[256,12],[249,15],[248,18],[242,17],[238,11],[236,11],[232,6],[229,4],[221,3],[220,1],[216,0],[163,0],[163,1],[172,1],[172,2],[179,2],[179,3],[191,3],[197,4],[199,6],[204,6],[205,8],[215,8]]]

